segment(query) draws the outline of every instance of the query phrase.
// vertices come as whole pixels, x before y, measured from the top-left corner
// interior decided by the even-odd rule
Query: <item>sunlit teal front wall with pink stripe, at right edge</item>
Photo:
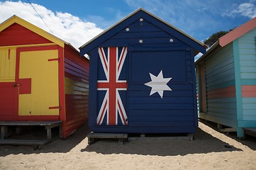
[[[256,128],[256,28],[237,40],[239,68],[235,74],[240,76],[241,96],[237,96],[238,128]],[[253,90],[255,89],[255,90]],[[241,134],[243,135],[243,134]]]

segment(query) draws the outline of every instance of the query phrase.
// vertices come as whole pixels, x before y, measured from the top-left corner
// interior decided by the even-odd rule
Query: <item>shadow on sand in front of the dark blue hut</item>
[[[157,156],[175,156],[186,154],[206,154],[209,152],[232,152],[241,149],[230,146],[218,140],[200,128],[194,134],[194,140],[169,140],[157,137],[145,137],[118,145],[113,140],[99,140],[93,145],[87,145],[81,152],[96,152],[101,154],[141,154]]]

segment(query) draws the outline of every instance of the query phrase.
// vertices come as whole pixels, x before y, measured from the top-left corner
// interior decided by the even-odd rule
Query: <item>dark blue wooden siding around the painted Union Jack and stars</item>
[[[139,21],[141,17],[143,22]],[[191,43],[194,44],[187,36],[142,12],[130,16],[83,47],[82,54],[88,52],[90,56],[90,129],[94,132],[194,132],[198,123]],[[98,47],[127,47],[121,75],[128,81],[128,89],[122,91],[121,98],[128,125],[96,124],[106,94],[97,91],[97,80],[105,79],[104,70],[99,68]],[[164,91],[163,98],[157,93],[150,96],[151,88],[145,86],[150,81],[149,73],[157,76],[161,69],[164,78],[172,77],[167,84],[172,91]]]

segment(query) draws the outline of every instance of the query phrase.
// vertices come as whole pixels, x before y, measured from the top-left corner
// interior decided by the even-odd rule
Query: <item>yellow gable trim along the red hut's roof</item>
[[[70,45],[64,40],[61,40],[60,38],[55,37],[54,35],[46,32],[41,28],[38,28],[37,26],[34,26],[32,23],[29,23],[28,21],[25,21],[16,15],[11,16],[9,19],[7,19],[6,21],[0,24],[0,32],[8,28],[9,26],[11,26],[13,23],[18,23],[19,25],[27,28],[28,30],[33,31],[34,33],[37,33],[38,35],[41,35],[43,38],[48,39],[51,42],[54,42],[55,44],[60,45],[61,47],[64,47],[65,44]]]

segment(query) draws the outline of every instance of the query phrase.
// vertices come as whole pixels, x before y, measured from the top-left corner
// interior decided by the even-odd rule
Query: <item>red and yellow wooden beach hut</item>
[[[61,137],[88,115],[89,60],[69,43],[12,16],[0,25],[1,138],[11,125],[60,125]]]

